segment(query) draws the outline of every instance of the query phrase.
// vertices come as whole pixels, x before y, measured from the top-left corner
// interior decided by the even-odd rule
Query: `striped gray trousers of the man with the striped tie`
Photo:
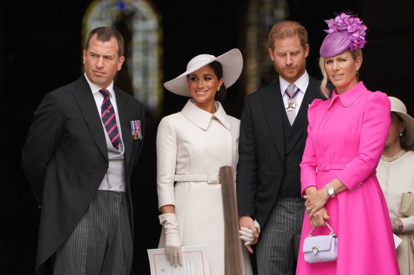
[[[133,238],[125,192],[98,190],[55,254],[53,274],[130,274]]]

